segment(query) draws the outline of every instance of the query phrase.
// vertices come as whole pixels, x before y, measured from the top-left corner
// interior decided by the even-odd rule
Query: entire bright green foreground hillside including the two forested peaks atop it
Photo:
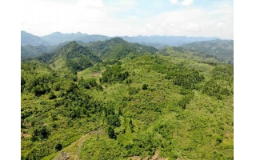
[[[213,56],[70,42],[21,75],[22,159],[234,159],[234,66]]]

